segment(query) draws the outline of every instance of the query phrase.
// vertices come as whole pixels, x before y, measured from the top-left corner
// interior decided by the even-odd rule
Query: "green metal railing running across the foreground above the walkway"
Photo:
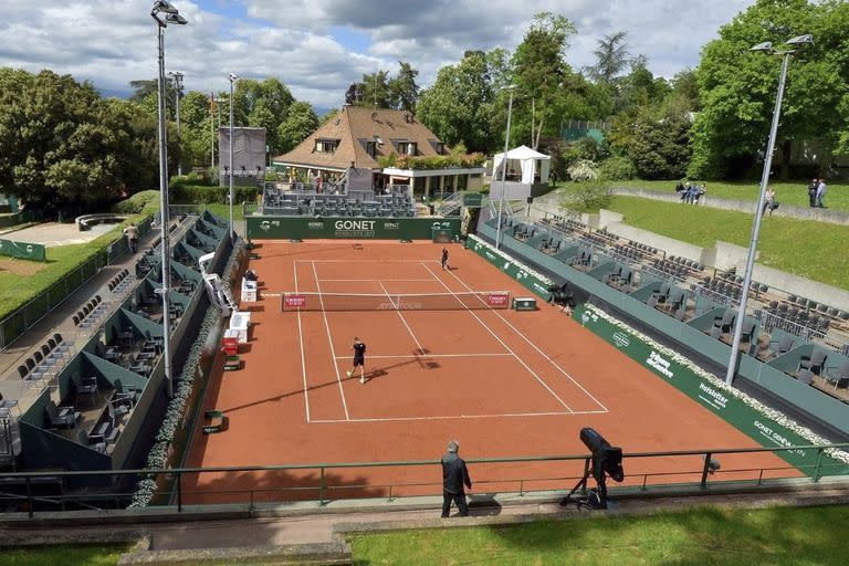
[[[612,485],[610,493],[615,496],[619,490],[622,492],[627,490],[652,492],[668,490],[670,486],[682,492],[698,492],[730,483],[733,483],[735,489],[756,490],[788,479],[817,483],[825,475],[847,476],[849,474],[849,464],[824,461],[827,450],[845,450],[847,448],[849,448],[849,443],[625,453],[622,454],[622,462],[626,479],[621,486]],[[723,458],[745,459],[747,455],[762,453],[795,452],[798,454],[807,451],[815,452],[816,459],[814,459],[814,463],[803,467],[790,464],[732,467],[727,465],[727,460],[720,468],[715,465],[716,461]],[[680,461],[681,464],[672,464],[672,461]],[[644,462],[648,463],[644,464]],[[475,493],[525,496],[534,493],[552,494],[567,491],[573,481],[580,480],[589,470],[590,454],[469,459],[467,463],[475,480]],[[30,517],[36,515],[36,510],[44,510],[45,507],[50,512],[69,507],[115,509],[125,505],[133,493],[126,490],[93,492],[92,489],[86,489],[78,495],[72,492],[61,495],[44,495],[36,494],[34,488],[40,482],[45,481],[72,485],[86,480],[90,482],[105,480],[111,484],[116,484],[120,483],[120,479],[153,479],[160,481],[160,486],[164,483],[169,484],[167,489],[159,491],[159,500],[164,505],[175,506],[177,513],[182,512],[187,505],[202,510],[206,505],[229,504],[252,511],[256,509],[260,502],[306,501],[326,505],[332,501],[356,499],[394,501],[410,495],[438,495],[441,493],[442,483],[438,480],[441,478],[438,471],[439,464],[440,462],[437,460],[416,460],[268,467],[17,472],[0,474],[0,481],[6,485],[3,493],[0,493],[0,502],[17,503],[27,511]],[[566,473],[538,470],[537,475],[530,475],[532,472],[527,468],[533,468],[534,464],[557,464],[563,467],[562,469]],[[513,465],[518,467],[520,471],[512,471]],[[489,467],[497,468],[488,472],[486,468]],[[379,481],[379,473],[375,481],[365,479],[366,470],[390,469],[391,473],[385,475],[402,479],[406,475],[406,470],[423,468],[429,469],[427,471],[428,476],[432,475],[433,481],[405,482],[394,480],[381,482]],[[658,468],[664,471],[656,471]],[[346,483],[343,480],[343,474],[339,472],[346,470],[358,471],[355,481]],[[799,479],[799,472],[807,479]],[[412,474],[413,472],[409,473]],[[214,476],[209,480],[211,486],[203,486],[200,481],[203,474]],[[268,474],[268,476],[263,478],[263,474]],[[849,476],[847,478],[849,479]],[[10,490],[9,486],[15,480],[18,485],[23,488],[24,493],[14,494]],[[229,482],[232,482],[232,485],[228,485]],[[123,483],[126,484],[127,482],[124,481]],[[133,513],[133,510],[127,510],[126,513]]]

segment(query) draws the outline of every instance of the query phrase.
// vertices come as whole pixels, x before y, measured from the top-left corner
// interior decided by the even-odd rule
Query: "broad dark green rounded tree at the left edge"
[[[104,101],[70,75],[1,70],[0,190],[44,212],[86,210],[122,193],[137,182],[134,161],[155,170],[138,151],[156,139],[134,129],[142,116],[138,105]]]

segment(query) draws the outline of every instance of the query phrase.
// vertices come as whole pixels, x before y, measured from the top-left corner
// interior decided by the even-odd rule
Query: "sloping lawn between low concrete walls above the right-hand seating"
[[[614,197],[607,207],[625,222],[695,245],[716,240],[748,245],[752,214],[637,197]],[[766,217],[761,224],[758,263],[837,287],[849,289],[847,228],[810,220]]]

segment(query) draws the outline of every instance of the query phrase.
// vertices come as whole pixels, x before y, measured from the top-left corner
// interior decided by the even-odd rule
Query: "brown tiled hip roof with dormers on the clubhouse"
[[[407,154],[410,144],[415,150],[411,155],[444,153],[437,136],[409,112],[345,106],[292,151],[275,157],[274,163],[342,170],[354,161],[357,168],[379,169],[380,157],[392,151]]]

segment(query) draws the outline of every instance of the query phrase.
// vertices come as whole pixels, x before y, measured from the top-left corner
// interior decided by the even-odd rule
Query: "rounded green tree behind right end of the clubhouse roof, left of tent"
[[[468,51],[457,65],[440,69],[433,86],[421,93],[417,116],[446,144],[463,142],[479,151],[497,139],[491,62],[482,51]]]

